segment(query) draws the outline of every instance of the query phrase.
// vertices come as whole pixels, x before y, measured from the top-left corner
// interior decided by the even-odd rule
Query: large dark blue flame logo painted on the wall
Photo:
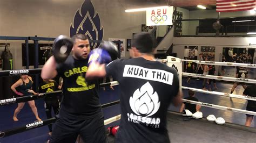
[[[103,27],[91,0],[84,1],[81,8],[77,10],[73,23],[70,24],[70,37],[77,33],[87,35],[90,40],[103,39]],[[91,45],[93,45],[92,48],[96,48],[99,43],[91,43]]]

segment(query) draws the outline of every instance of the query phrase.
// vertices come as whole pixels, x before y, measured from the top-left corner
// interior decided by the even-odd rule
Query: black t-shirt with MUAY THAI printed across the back
[[[115,60],[106,66],[107,75],[120,87],[122,118],[117,142],[170,142],[166,114],[178,94],[176,70],[144,58]]]

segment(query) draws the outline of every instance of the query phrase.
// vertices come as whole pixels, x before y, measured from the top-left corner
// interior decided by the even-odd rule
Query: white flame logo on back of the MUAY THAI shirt
[[[157,92],[154,92],[153,87],[149,82],[145,83],[140,89],[134,91],[130,97],[130,106],[134,113],[149,117],[154,115],[160,107],[160,102]]]

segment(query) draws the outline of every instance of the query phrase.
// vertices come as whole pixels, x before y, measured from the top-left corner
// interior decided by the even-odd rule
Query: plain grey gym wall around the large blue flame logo
[[[89,0],[86,0],[89,1]],[[0,35],[20,37],[57,37],[69,35],[70,25],[75,13],[84,0],[9,0],[0,2]],[[146,23],[145,12],[126,13],[125,1],[91,0],[103,26],[103,40],[109,38],[131,39],[132,33],[141,31]],[[127,7],[136,5],[128,3]],[[1,40],[1,42],[5,42]],[[14,69],[22,67],[22,43],[25,41],[8,40],[14,57]],[[33,43],[33,41],[30,41]],[[39,41],[48,43],[48,41]],[[33,54],[33,53],[32,53]],[[126,51],[126,55],[129,52]],[[31,59],[30,59],[31,60]],[[33,60],[33,59],[32,59]],[[32,68],[32,67],[31,67]]]

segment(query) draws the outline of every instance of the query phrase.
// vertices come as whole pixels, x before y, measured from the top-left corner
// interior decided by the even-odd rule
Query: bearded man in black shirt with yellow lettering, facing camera
[[[89,39],[84,34],[76,34],[71,40],[72,55],[59,64],[51,56],[41,73],[43,79],[51,79],[56,75],[63,78],[62,105],[56,116],[50,142],[75,142],[78,134],[85,142],[106,142],[98,81],[85,80],[90,53]]]

